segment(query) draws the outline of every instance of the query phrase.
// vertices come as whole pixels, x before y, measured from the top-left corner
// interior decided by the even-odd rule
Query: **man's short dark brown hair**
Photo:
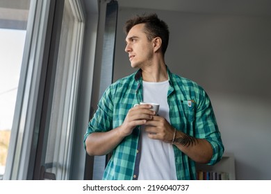
[[[170,38],[170,31],[165,21],[158,18],[156,14],[150,15],[136,15],[127,20],[124,26],[126,35],[129,33],[133,26],[137,24],[145,24],[145,33],[147,39],[151,41],[154,37],[160,37],[162,39],[162,53],[165,54],[167,50],[168,40]]]

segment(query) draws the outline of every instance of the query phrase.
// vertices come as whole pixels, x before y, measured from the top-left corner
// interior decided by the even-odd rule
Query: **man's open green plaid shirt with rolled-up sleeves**
[[[215,114],[206,92],[195,82],[176,76],[167,69],[170,87],[167,103],[170,107],[170,123],[176,130],[190,136],[206,139],[213,147],[213,157],[208,163],[220,161],[224,146],[215,120]],[[142,73],[136,73],[117,80],[106,89],[99,101],[97,112],[91,119],[85,139],[92,132],[107,132],[122,125],[133,105],[142,101]],[[140,161],[140,127],[113,150],[103,179],[137,179]],[[177,179],[196,179],[195,161],[174,147]]]

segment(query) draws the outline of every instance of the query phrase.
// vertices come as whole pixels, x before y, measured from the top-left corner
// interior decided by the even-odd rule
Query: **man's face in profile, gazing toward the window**
[[[151,64],[154,55],[152,42],[144,32],[145,24],[133,26],[126,36],[125,52],[129,54],[131,67],[142,68]]]

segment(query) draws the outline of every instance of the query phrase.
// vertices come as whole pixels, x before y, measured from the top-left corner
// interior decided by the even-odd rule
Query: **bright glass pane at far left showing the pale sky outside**
[[[0,179],[6,167],[29,6],[30,0],[0,2]]]

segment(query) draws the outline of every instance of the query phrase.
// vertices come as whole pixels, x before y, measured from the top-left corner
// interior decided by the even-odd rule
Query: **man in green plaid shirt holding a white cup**
[[[139,70],[106,89],[85,149],[112,152],[103,179],[196,179],[195,162],[215,164],[224,152],[211,101],[167,68],[169,30],[157,15],[129,19],[125,30],[125,51]],[[160,104],[159,111],[138,105],[143,100]]]

